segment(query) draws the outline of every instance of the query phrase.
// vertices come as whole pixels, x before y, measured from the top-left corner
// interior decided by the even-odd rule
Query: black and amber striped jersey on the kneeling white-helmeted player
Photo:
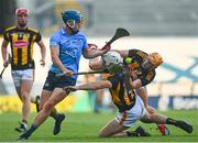
[[[128,89],[124,82],[124,75],[118,74],[108,77],[112,87],[109,88],[113,103],[119,112],[130,110],[135,103],[135,94],[133,89]]]

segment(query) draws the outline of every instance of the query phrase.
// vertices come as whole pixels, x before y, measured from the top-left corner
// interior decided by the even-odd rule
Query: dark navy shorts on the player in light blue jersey
[[[43,89],[53,91],[54,88],[64,88],[65,86],[75,86],[76,79],[72,77],[62,77],[57,78],[56,74],[53,72],[48,72],[47,78],[43,86]]]

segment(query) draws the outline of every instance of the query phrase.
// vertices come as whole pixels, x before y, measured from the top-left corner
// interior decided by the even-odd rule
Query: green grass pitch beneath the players
[[[170,136],[162,136],[156,130],[155,124],[142,124],[152,136],[148,138],[98,138],[99,130],[116,114],[112,113],[67,113],[66,120],[63,123],[62,132],[54,136],[53,125],[54,121],[50,118],[28,140],[30,142],[198,142],[198,111],[168,111],[162,112],[175,119],[183,119],[194,125],[194,132],[188,134],[183,130],[168,125],[170,129]],[[31,114],[30,121],[34,119],[35,114]],[[14,131],[20,121],[19,113],[1,113],[0,114],[0,142],[13,142],[20,135]],[[152,130],[151,130],[152,129]]]

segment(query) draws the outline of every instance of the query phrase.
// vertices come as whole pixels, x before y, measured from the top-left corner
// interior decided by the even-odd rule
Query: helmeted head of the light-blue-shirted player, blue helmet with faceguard
[[[66,10],[62,13],[62,18],[66,26],[72,31],[72,34],[79,32],[82,22],[82,15],[77,10]]]

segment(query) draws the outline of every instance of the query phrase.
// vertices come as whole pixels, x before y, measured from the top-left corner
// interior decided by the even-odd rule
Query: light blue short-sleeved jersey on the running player
[[[52,46],[59,48],[58,57],[61,62],[74,73],[78,72],[81,53],[88,47],[87,38],[81,32],[68,35],[64,29],[61,29],[51,36],[50,46],[51,48]],[[55,64],[52,65],[51,72],[56,74],[63,73]],[[73,77],[77,78],[77,76]]]

